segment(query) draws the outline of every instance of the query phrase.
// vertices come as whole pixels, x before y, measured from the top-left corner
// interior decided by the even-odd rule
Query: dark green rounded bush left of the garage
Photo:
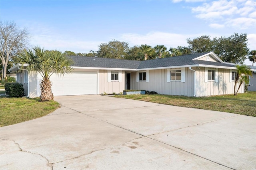
[[[24,96],[24,88],[20,83],[6,83],[4,85],[5,93],[11,97]]]

